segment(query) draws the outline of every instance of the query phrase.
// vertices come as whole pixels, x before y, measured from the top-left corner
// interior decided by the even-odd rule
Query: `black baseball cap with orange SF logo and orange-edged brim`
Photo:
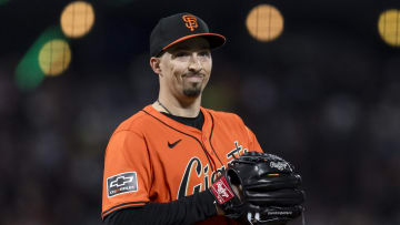
[[[150,57],[158,57],[173,44],[196,37],[204,38],[211,49],[226,42],[223,35],[210,33],[207,23],[192,13],[183,12],[162,18],[150,34]]]

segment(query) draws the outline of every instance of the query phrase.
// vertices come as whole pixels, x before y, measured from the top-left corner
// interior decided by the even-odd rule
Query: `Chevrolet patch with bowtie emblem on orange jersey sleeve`
[[[136,172],[126,172],[107,178],[108,197],[137,192],[138,178]]]

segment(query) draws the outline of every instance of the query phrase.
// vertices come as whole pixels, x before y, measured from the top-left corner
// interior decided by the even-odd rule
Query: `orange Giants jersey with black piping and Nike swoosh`
[[[234,156],[262,152],[238,115],[200,110],[204,115],[201,131],[151,105],[117,127],[104,156],[102,217],[120,208],[203,192]],[[206,222],[220,224],[212,223],[217,219]]]

